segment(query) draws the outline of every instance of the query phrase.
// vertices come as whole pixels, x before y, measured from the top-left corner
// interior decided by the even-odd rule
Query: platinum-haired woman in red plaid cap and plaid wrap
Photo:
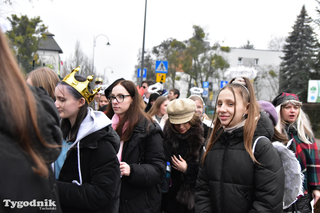
[[[309,118],[301,109],[298,95],[280,93],[272,104],[278,115],[276,129],[288,140],[293,139],[289,148],[295,153],[305,177],[304,196],[298,197],[292,208],[302,213],[311,212],[310,202],[314,198],[316,203],[320,198],[320,160]]]

